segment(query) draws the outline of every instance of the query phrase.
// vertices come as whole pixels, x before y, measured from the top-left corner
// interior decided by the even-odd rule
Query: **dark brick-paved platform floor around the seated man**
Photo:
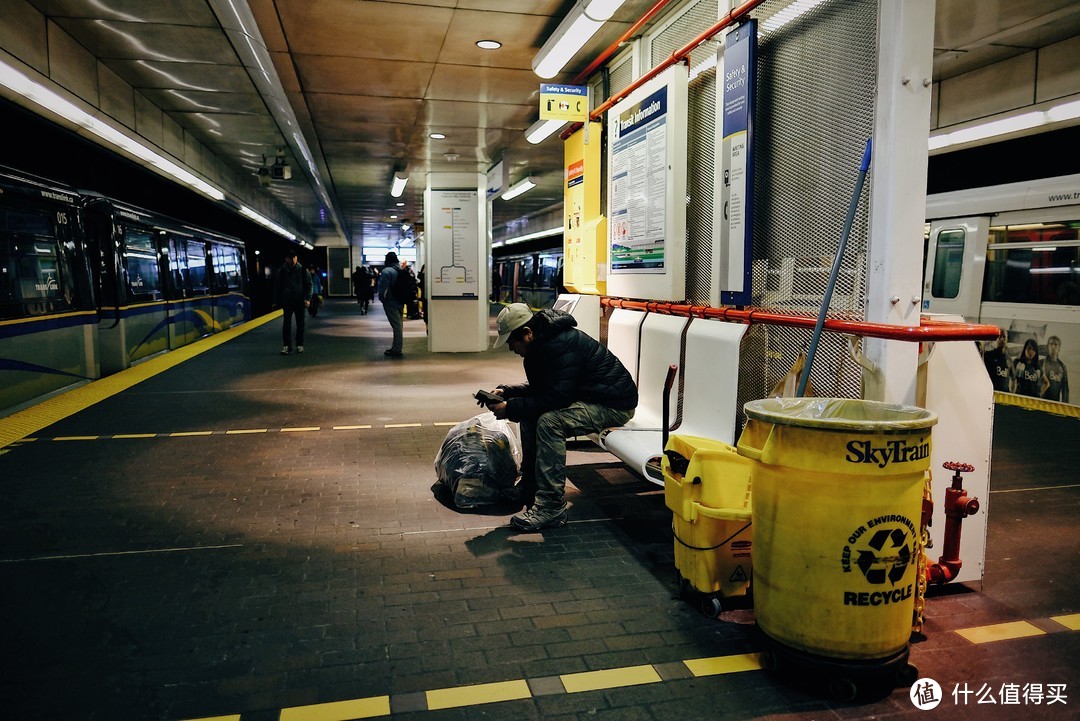
[[[381,309],[332,301],[308,352],[282,357],[278,323],[3,449],[0,717],[922,713],[907,689],[836,703],[821,679],[757,669],[753,611],[711,620],[679,598],[661,489],[590,444],[569,454],[566,528],[516,534],[436,502],[445,424],[519,378],[516,356],[428,353],[414,321],[389,360]],[[984,583],[932,597],[912,647],[946,695],[933,712],[1076,718],[1078,431],[999,408]],[[1042,632],[957,632],[1007,622]],[[750,670],[684,663],[716,657]],[[1066,703],[950,695],[1032,683],[1064,684]],[[321,704],[337,705],[298,709]]]

